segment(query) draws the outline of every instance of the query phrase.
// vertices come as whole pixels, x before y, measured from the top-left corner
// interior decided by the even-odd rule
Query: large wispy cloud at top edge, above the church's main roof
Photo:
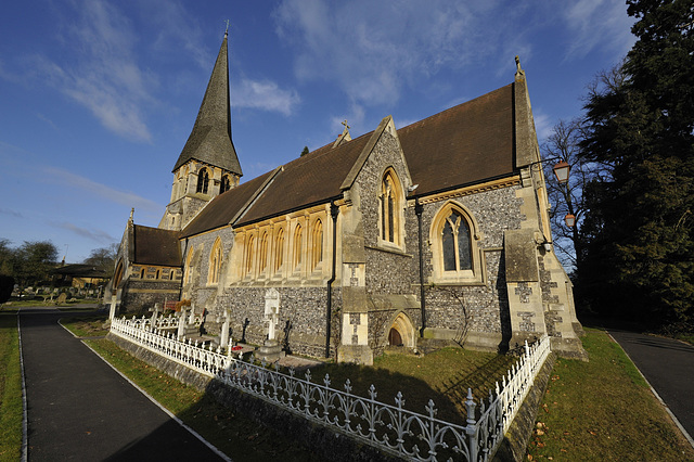
[[[336,81],[358,104],[391,104],[403,85],[497,51],[505,33],[488,27],[496,3],[284,0],[274,18],[299,79]]]

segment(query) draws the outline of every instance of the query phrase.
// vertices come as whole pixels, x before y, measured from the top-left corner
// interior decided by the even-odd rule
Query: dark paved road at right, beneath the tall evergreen
[[[609,334],[694,437],[694,347],[627,331],[611,329]]]

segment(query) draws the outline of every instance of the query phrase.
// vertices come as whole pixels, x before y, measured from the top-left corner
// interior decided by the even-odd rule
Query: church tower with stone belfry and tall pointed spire
[[[171,201],[160,229],[182,230],[205,204],[236,187],[243,175],[231,140],[227,39],[224,33],[195,125],[174,166]]]

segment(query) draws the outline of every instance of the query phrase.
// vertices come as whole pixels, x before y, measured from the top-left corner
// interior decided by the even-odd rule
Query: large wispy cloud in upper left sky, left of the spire
[[[70,12],[59,20],[65,24],[57,41],[72,53],[61,61],[35,55],[26,63],[30,73],[88,108],[108,130],[150,142],[143,107],[153,102],[156,79],[137,63],[130,20],[103,0],[76,0],[63,8]]]

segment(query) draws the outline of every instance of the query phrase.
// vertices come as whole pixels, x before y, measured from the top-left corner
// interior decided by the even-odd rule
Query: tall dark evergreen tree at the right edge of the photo
[[[637,42],[586,104],[582,155],[607,166],[579,282],[603,312],[692,330],[694,321],[694,2],[628,0]]]

